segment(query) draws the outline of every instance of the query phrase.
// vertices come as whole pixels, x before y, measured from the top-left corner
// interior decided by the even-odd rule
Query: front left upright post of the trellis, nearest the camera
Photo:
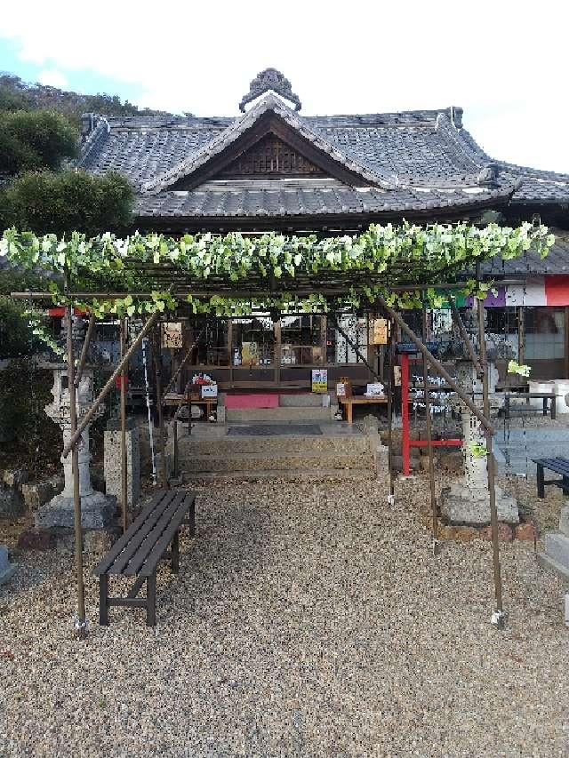
[[[75,386],[75,356],[73,355],[73,306],[67,307],[68,330],[68,389],[69,389],[69,423],[71,437],[77,430],[77,407]],[[87,636],[87,621],[85,618],[85,588],[83,579],[83,531],[81,528],[81,494],[79,489],[79,451],[77,444],[73,445],[71,463],[73,470],[73,511],[75,526],[75,568],[77,579],[77,621],[76,633],[79,639]]]

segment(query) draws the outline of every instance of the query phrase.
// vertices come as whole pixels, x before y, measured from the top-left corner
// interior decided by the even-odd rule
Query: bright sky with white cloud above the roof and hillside
[[[464,108],[492,156],[569,173],[569,3],[541,0],[18,0],[0,14],[0,70],[199,116],[237,114],[279,68],[308,114]],[[163,10],[163,12],[161,12]]]

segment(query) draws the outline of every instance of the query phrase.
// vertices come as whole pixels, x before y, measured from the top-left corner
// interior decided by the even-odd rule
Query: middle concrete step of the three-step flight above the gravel
[[[373,469],[375,461],[371,453],[342,454],[317,452],[312,454],[278,453],[232,453],[223,456],[188,456],[179,459],[181,472],[245,472],[259,470],[293,471],[301,469]]]

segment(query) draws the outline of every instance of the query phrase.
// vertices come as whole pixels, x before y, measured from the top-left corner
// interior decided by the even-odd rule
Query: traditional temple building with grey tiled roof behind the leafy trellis
[[[268,68],[234,116],[84,115],[78,165],[123,173],[136,193],[132,230],[170,235],[354,234],[403,219],[483,222],[489,211],[512,225],[540,219],[557,236],[549,258],[485,266],[498,287],[488,329],[533,377],[569,378],[569,175],[487,156],[462,118],[456,106],[302,116],[289,81]],[[324,315],[208,323],[188,375],[205,371],[224,389],[301,389],[310,369],[326,368],[330,381],[365,384],[358,352],[372,364],[378,352],[370,319],[339,319],[340,331]]]

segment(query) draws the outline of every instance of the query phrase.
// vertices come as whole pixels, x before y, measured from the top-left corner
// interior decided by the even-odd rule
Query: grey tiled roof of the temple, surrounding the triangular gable
[[[220,156],[268,113],[371,188],[309,189],[306,184],[303,190],[224,186],[172,192],[176,181]],[[99,117],[79,164],[94,173],[124,173],[137,191],[141,217],[405,214],[485,207],[490,200],[496,205],[569,203],[569,175],[494,161],[462,128],[461,115],[461,108],[445,108],[301,116],[269,93],[236,118]]]

